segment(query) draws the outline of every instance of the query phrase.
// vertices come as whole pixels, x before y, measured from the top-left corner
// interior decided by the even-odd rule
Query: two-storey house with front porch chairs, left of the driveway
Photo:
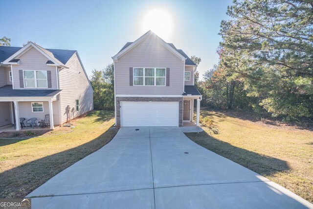
[[[77,51],[0,46],[0,126],[49,114],[53,129],[91,111],[92,94]]]

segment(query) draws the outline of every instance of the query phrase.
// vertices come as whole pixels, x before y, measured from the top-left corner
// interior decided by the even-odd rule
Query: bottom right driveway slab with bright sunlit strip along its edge
[[[155,189],[159,209],[307,209],[312,204],[273,182]]]

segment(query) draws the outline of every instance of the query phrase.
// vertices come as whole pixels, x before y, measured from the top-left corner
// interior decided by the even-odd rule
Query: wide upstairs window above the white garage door
[[[134,68],[134,86],[165,86],[166,68]]]

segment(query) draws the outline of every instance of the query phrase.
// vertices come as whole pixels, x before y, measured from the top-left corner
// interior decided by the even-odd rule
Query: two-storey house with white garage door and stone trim
[[[116,126],[183,126],[193,121],[201,94],[195,88],[197,65],[173,44],[148,31],[115,56]]]

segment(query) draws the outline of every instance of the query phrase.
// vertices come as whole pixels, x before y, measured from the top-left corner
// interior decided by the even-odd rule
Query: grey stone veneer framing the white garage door
[[[181,102],[179,103],[179,127],[182,126],[182,97],[116,97],[116,126],[121,127],[120,102]]]

